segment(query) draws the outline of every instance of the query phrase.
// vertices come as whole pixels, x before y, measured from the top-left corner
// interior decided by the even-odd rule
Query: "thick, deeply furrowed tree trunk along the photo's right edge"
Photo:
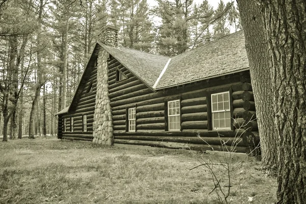
[[[278,203],[306,198],[306,2],[261,1],[272,61]]]

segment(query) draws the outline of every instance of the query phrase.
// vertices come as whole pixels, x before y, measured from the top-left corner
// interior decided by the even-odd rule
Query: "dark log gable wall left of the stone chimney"
[[[61,115],[62,138],[70,140],[89,140],[93,136],[93,114],[95,109],[95,95],[97,90],[97,67],[92,66],[85,73],[84,82],[77,103],[71,104],[70,111]],[[92,86],[92,92],[89,92]],[[83,115],[87,115],[87,132],[83,131]],[[70,118],[73,117],[73,132],[70,131]],[[64,119],[67,119],[66,132],[64,131]]]

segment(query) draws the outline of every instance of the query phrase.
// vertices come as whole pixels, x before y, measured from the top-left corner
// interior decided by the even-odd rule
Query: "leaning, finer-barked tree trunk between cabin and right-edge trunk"
[[[276,129],[274,125],[271,63],[259,6],[237,0],[245,36],[264,168],[276,167]],[[275,168],[276,169],[276,168]]]

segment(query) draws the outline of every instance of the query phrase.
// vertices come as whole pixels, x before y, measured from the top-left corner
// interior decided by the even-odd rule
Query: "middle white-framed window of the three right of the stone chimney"
[[[180,100],[168,101],[168,130],[181,130],[181,108]]]

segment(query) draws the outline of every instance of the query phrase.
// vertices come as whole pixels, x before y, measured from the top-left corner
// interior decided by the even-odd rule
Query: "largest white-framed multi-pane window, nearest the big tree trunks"
[[[212,129],[231,130],[230,92],[211,94]]]

